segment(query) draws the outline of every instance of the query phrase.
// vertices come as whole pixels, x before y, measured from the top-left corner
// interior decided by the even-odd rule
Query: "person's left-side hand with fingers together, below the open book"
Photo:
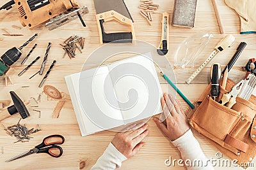
[[[119,132],[111,142],[127,159],[133,157],[144,145],[141,142],[148,135],[148,124],[135,131]]]

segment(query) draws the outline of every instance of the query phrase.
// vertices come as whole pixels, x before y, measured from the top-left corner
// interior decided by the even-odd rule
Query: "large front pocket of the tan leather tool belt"
[[[222,106],[208,95],[194,113],[190,124],[207,138],[224,146],[227,134],[232,132],[239,118],[239,112]]]

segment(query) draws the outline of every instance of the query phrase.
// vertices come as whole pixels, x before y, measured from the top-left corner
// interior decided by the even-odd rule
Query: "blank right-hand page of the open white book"
[[[150,53],[145,55],[108,66],[125,124],[163,112],[160,103],[163,92],[154,62]]]

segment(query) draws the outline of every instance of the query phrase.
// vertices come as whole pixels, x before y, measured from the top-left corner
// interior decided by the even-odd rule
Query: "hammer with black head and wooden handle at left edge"
[[[0,112],[0,122],[6,118],[11,117],[16,113],[20,113],[21,118],[29,117],[29,112],[22,102],[22,100],[15,94],[15,92],[11,91],[10,95],[12,97],[13,105],[8,107],[6,110]]]

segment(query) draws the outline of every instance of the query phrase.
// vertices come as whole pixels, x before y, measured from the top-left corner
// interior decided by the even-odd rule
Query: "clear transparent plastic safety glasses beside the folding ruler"
[[[195,60],[202,53],[213,35],[209,32],[197,32],[179,45],[174,57],[174,66],[194,67]]]

